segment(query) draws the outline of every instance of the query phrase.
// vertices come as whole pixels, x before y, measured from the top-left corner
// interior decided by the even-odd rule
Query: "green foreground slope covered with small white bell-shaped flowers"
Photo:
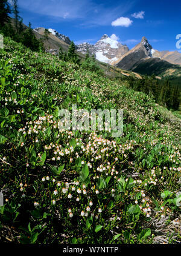
[[[179,118],[124,83],[10,39],[0,54],[1,240],[177,243]],[[72,104],[124,109],[124,136],[61,132],[58,109]]]

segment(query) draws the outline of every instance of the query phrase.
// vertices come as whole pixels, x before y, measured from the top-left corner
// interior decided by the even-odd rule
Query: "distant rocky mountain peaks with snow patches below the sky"
[[[37,38],[43,38],[45,29],[39,27],[33,30]],[[43,41],[45,48],[52,54],[58,54],[60,46],[67,52],[71,39],[57,30],[48,29],[48,39]],[[80,58],[89,52],[98,61],[116,66],[119,69],[140,73],[141,75],[155,74],[160,77],[181,76],[181,53],[158,51],[153,49],[148,39],[142,37],[141,42],[129,50],[127,45],[121,44],[112,36],[104,34],[95,44],[83,42],[75,45]]]

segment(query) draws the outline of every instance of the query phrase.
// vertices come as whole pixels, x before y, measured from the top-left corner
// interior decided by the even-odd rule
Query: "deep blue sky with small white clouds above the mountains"
[[[76,44],[115,34],[130,49],[142,36],[157,50],[178,50],[180,0],[19,0],[24,23],[56,29]]]

